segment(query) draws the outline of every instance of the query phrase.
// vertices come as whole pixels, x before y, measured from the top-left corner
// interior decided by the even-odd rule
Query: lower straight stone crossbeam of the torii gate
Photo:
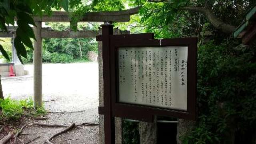
[[[42,30],[42,38],[96,38],[99,35],[97,30],[80,31],[56,31]]]

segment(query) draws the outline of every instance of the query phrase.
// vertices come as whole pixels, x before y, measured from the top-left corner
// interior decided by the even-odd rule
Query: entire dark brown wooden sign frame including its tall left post
[[[155,40],[154,34],[122,34],[113,35],[113,25],[102,25],[102,41],[104,107],[99,107],[99,114],[104,115],[104,143],[115,144],[114,117],[130,118],[153,122],[153,116],[173,116],[196,120],[196,53],[197,38],[175,38]],[[135,104],[123,104],[117,100],[117,49],[121,47],[146,46],[188,46],[188,110],[171,110]]]

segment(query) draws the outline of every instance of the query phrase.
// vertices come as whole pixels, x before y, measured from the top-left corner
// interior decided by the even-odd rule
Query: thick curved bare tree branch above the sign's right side
[[[226,34],[231,34],[236,29],[235,26],[225,24],[224,22],[221,22],[220,20],[218,20],[218,18],[213,14],[213,12],[208,7],[184,6],[184,7],[181,7],[180,10],[202,12],[216,29],[221,30]]]

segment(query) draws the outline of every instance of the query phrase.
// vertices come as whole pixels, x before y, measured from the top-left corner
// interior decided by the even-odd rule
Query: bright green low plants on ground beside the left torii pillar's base
[[[34,109],[32,98],[25,100],[13,100],[10,97],[4,100],[0,99],[0,107],[2,109],[0,112],[2,122],[19,120],[22,116],[35,117],[47,113],[44,107]]]

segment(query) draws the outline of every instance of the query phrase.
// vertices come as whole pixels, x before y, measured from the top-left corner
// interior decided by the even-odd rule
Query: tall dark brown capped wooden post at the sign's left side
[[[103,92],[104,92],[104,143],[115,144],[115,120],[111,113],[110,95],[110,35],[113,25],[102,25],[102,59],[103,59]]]

